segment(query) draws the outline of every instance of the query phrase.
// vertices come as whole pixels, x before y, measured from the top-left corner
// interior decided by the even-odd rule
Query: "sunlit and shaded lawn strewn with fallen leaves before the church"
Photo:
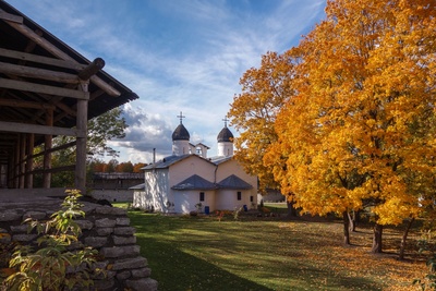
[[[121,205],[122,206],[122,205]],[[342,225],[282,218],[165,216],[130,211],[141,253],[159,290],[419,290],[425,264],[413,240],[405,262],[392,252],[400,234],[385,230],[387,253],[370,253],[371,230],[341,245]]]

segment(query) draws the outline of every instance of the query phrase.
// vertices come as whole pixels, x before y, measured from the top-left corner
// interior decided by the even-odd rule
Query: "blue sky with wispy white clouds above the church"
[[[262,54],[296,46],[324,19],[326,0],[7,0],[135,92],[118,160],[171,154],[183,112],[191,143],[217,154],[239,80]],[[238,133],[230,128],[235,136]]]

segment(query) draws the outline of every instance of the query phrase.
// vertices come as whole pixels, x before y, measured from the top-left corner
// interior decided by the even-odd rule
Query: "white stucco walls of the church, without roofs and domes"
[[[251,190],[216,190],[216,191],[175,191],[171,187],[183,180],[197,174],[209,182],[219,182],[231,174],[235,174],[250,183]],[[135,191],[133,206],[143,209],[167,213],[175,211],[189,214],[196,210],[195,205],[199,202],[199,192],[205,193],[205,201],[202,202],[203,210],[209,206],[210,213],[215,210],[234,210],[237,207],[246,205],[251,209],[254,203],[257,205],[257,179],[244,172],[235,160],[228,160],[218,168],[196,155],[192,155],[167,169],[156,169],[145,172],[145,190]],[[238,192],[241,192],[241,201],[238,201]],[[250,201],[253,196],[253,203]],[[173,209],[167,208],[167,202],[174,204]]]

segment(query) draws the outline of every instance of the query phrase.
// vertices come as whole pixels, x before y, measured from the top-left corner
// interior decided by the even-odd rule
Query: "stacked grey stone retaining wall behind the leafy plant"
[[[34,203],[0,205],[0,244],[12,242],[28,244],[37,234],[27,233],[27,225],[22,221],[48,219],[60,208],[61,199],[43,198]],[[152,270],[147,259],[140,254],[136,245],[135,229],[130,227],[125,209],[84,203],[85,217],[77,219],[82,228],[82,243],[99,251],[101,260],[96,267],[105,269],[105,278],[94,280],[94,289],[99,291],[132,290],[155,291],[157,281],[150,278]],[[4,254],[3,254],[4,255]],[[0,268],[7,266],[0,266]]]

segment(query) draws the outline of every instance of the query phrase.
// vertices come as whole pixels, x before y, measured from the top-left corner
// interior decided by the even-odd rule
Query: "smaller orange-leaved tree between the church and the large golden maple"
[[[270,169],[262,159],[266,148],[277,140],[276,116],[292,94],[293,62],[288,53],[263,56],[261,68],[252,68],[241,77],[242,93],[234,96],[228,114],[240,132],[233,142],[234,157],[246,172],[258,177],[262,193],[277,189]]]

